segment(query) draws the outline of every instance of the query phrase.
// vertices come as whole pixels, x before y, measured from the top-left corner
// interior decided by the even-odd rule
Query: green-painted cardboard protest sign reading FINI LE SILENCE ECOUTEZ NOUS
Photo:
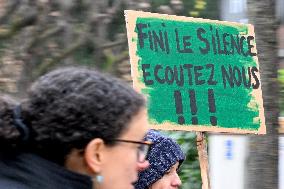
[[[253,26],[125,11],[134,88],[153,129],[265,134]]]

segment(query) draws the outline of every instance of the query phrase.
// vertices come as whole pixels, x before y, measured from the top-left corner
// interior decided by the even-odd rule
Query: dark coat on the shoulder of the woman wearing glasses
[[[89,176],[34,154],[0,157],[0,189],[92,189]]]

